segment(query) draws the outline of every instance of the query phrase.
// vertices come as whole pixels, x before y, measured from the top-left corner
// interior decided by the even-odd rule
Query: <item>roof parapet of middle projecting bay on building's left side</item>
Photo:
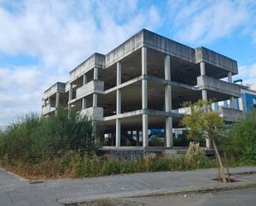
[[[75,67],[75,69],[70,71],[70,82],[79,78],[81,75],[88,72],[90,69],[97,67],[99,69],[105,68],[105,55],[101,55],[99,53],[94,53],[83,63]]]

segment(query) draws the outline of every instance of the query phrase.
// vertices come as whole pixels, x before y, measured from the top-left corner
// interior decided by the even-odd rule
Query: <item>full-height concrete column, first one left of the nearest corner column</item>
[[[117,63],[117,85],[121,84],[121,63]],[[121,113],[121,91],[117,90],[116,99],[116,114]],[[116,119],[116,146],[121,145],[121,122],[120,119]]]

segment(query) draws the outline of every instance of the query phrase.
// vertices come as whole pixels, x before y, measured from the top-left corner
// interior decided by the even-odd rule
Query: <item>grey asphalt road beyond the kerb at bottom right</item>
[[[145,206],[255,206],[256,188],[206,194],[160,195],[121,199]],[[135,204],[135,203],[136,204]]]

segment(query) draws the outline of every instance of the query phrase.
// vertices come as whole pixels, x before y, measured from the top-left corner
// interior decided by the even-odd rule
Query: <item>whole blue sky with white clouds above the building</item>
[[[256,84],[256,1],[0,0],[0,126],[41,113],[43,92],[142,28],[237,60]]]

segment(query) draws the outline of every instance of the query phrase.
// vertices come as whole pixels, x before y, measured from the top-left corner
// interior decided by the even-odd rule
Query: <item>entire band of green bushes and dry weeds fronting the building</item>
[[[186,121],[195,124],[202,119],[198,116],[194,121]],[[208,123],[211,119],[209,117]],[[229,166],[255,164],[256,112],[239,119],[225,133],[222,123],[220,122],[221,130],[216,130],[214,122],[204,124],[200,130],[191,130],[191,127],[189,135],[192,140],[200,137],[201,141],[201,137],[207,135],[205,132],[214,129],[216,136],[211,138],[221,143],[222,149],[231,157]],[[225,135],[225,138],[221,138],[222,141],[219,139],[220,134]],[[87,117],[80,117],[75,111],[68,114],[60,109],[56,117],[31,114],[19,118],[0,131],[0,165],[30,179],[94,177],[216,166],[215,160],[205,158],[204,151],[196,143],[190,143],[186,156],[143,156],[134,160],[96,156],[98,143],[95,137],[98,134],[95,132],[94,123]],[[181,141],[187,142],[185,134]]]

